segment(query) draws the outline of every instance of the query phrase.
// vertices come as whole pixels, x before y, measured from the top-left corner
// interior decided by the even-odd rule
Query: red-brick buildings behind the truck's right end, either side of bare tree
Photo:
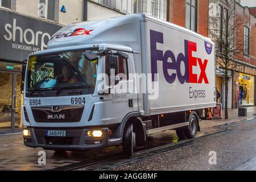
[[[234,41],[244,44],[241,47],[241,53],[234,59],[240,65],[240,71],[230,71],[233,76],[228,83],[228,108],[255,105],[256,8],[243,7],[235,0],[170,0],[167,2],[169,22],[209,38],[211,38],[209,30],[214,28],[211,19],[217,19],[221,14],[221,18],[224,18],[225,13],[230,13],[234,22],[236,18],[240,18],[238,21],[240,27],[237,27],[234,33]],[[217,43],[216,49],[218,49]],[[216,59],[218,59],[217,56]],[[216,71],[216,87],[222,96],[225,93],[224,83],[223,74]],[[224,104],[225,98],[221,97],[218,102]]]

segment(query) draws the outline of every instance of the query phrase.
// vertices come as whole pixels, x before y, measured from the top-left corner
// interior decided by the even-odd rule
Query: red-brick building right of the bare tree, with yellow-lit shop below
[[[243,44],[240,53],[235,57],[241,65],[233,76],[233,107],[255,105],[256,76],[256,17],[249,7],[236,3],[237,22],[236,42]]]

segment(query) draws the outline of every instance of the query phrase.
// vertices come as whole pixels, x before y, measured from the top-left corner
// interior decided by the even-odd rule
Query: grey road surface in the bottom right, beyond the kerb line
[[[229,130],[221,135],[213,135],[202,142],[191,143],[189,146],[164,154],[115,167],[113,170],[242,169],[242,166],[246,166],[243,164],[256,156],[256,121],[244,122],[228,128]],[[217,154],[216,165],[209,164],[210,151],[215,151]]]

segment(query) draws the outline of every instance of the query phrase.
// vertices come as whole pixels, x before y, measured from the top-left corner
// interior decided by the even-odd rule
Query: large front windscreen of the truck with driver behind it
[[[95,86],[97,61],[89,61],[84,51],[30,56],[27,68],[27,91]]]

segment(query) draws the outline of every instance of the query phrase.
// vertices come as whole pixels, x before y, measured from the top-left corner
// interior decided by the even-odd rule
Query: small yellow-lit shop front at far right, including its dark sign
[[[255,76],[236,73],[236,104],[237,107],[254,106]]]

